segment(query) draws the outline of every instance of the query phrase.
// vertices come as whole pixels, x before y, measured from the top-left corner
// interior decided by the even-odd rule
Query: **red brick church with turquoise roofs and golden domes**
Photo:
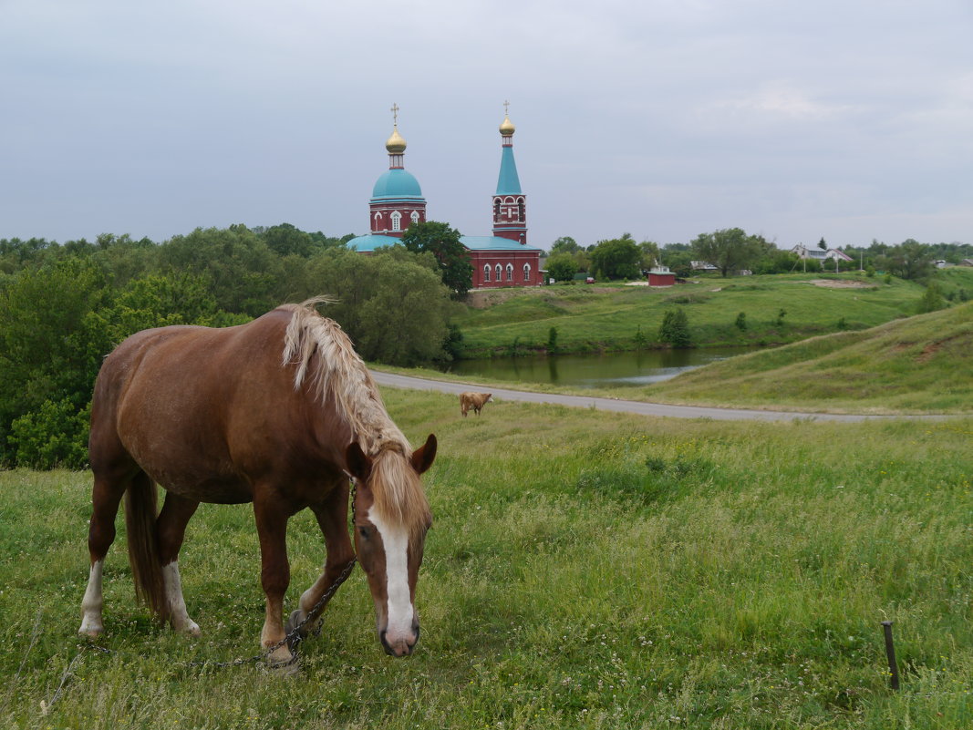
[[[398,107],[392,107],[397,115]],[[543,284],[541,250],[527,246],[526,199],[514,161],[514,124],[505,115],[500,124],[500,177],[490,200],[493,234],[460,236],[473,265],[473,289],[536,287]],[[371,232],[348,241],[350,249],[371,253],[400,243],[406,228],[426,220],[426,201],[414,175],[405,169],[406,140],[397,116],[385,142],[388,170],[381,174],[369,201]]]

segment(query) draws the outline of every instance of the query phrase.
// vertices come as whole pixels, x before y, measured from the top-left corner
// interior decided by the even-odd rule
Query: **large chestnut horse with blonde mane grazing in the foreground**
[[[193,635],[199,627],[177,563],[186,525],[201,502],[250,502],[267,598],[261,643],[273,647],[271,663],[292,659],[283,643],[285,536],[290,516],[305,507],[324,534],[327,560],[294,618],[320,620],[357,551],[382,646],[412,653],[415,581],[432,521],[419,474],[435,459],[436,437],[413,451],[347,335],[317,313],[324,300],[222,330],[144,330],[105,359],[91,402],[91,563],[80,633],[104,630],[102,567],[124,495],[136,592],[173,629]],[[349,475],[357,485],[354,549]],[[158,514],[156,484],[166,492]]]

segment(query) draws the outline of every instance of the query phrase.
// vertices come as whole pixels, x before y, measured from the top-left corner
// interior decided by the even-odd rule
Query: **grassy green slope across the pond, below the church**
[[[453,322],[463,332],[466,358],[543,350],[551,328],[558,330],[562,352],[659,346],[663,316],[675,307],[685,310],[700,346],[781,344],[914,314],[923,291],[914,282],[885,284],[882,277],[856,273],[702,278],[664,290],[558,285],[478,293],[475,305]],[[745,330],[735,326],[740,312]]]

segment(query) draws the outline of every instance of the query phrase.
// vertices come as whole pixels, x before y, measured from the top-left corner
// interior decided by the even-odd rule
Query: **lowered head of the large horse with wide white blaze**
[[[435,458],[434,435],[412,458],[397,449],[369,457],[357,443],[345,451],[348,472],[357,480],[355,550],[375,601],[378,639],[392,656],[411,654],[419,640],[415,580],[432,524],[419,474]]]

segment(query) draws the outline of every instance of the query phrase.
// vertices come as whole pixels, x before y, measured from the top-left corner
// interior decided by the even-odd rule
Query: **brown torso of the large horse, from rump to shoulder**
[[[290,316],[276,309],[232,328],[176,326],[127,338],[95,384],[92,469],[127,456],[187,497],[250,499],[248,469],[273,457],[274,440],[289,436],[286,424],[301,415],[281,366]]]

